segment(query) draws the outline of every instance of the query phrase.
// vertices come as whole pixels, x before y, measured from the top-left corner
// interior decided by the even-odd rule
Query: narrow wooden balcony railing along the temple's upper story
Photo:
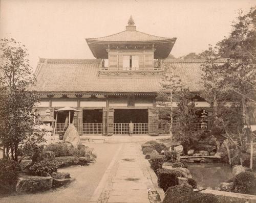
[[[101,67],[102,71],[159,71],[161,67]]]

